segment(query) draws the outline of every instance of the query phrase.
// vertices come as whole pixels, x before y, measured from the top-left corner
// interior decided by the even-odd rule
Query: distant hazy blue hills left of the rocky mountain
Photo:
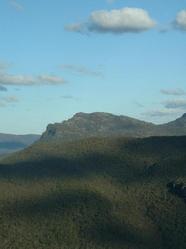
[[[39,135],[11,135],[0,133],[0,156],[22,150],[38,140],[39,137]]]

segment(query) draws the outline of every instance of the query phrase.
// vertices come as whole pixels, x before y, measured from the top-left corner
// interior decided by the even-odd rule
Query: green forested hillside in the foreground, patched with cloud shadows
[[[186,137],[40,141],[0,165],[2,249],[184,249]]]

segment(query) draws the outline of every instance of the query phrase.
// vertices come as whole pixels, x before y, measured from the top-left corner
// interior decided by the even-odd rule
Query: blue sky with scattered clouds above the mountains
[[[1,0],[0,132],[186,112],[186,0]]]

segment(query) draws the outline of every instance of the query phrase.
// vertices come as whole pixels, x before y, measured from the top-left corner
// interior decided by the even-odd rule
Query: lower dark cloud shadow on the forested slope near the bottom
[[[131,229],[125,221],[119,220],[113,215],[113,203],[102,195],[89,191],[68,189],[62,192],[54,192],[42,198],[21,200],[15,203],[7,203],[1,210],[10,219],[27,219],[27,222],[48,222],[48,226],[40,227],[45,234],[57,238],[57,234],[64,229],[69,233],[69,223],[79,227],[79,236],[84,241],[93,241],[99,245],[121,248],[125,244],[143,246],[143,248],[154,248],[152,243],[153,234],[150,238],[142,235],[142,231]],[[63,224],[68,217],[68,224]],[[56,224],[60,224],[59,227]],[[55,226],[55,229],[53,229]],[[17,227],[18,228],[18,227]],[[58,230],[59,229],[59,230]],[[38,237],[40,232],[38,231]],[[105,248],[105,247],[103,247]],[[111,248],[111,247],[109,247]],[[136,247],[135,247],[136,248]],[[140,247],[139,247],[140,248]]]

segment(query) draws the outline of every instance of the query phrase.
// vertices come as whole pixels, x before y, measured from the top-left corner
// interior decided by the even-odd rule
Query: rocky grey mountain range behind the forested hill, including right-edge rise
[[[88,137],[183,136],[186,135],[186,114],[175,121],[155,125],[127,116],[109,113],[77,113],[62,123],[49,124],[41,140],[73,141]]]

